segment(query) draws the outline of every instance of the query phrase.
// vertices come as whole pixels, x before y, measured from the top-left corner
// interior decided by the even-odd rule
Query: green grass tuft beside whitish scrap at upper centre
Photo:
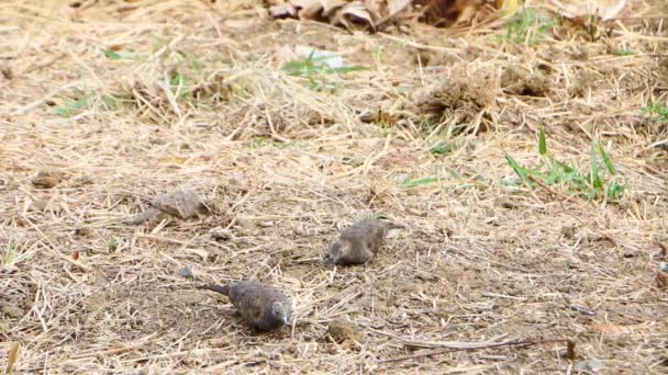
[[[336,56],[315,57],[313,56],[315,50],[311,52],[305,59],[290,61],[283,65],[281,69],[290,76],[307,79],[311,89],[316,91],[335,91],[342,86],[336,80],[341,75],[356,70],[368,70],[367,67],[363,66],[331,67],[326,60]]]

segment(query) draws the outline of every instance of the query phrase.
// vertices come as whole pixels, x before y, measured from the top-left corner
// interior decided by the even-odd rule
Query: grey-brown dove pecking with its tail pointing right
[[[357,221],[342,231],[324,261],[341,265],[366,263],[382,248],[388,232],[401,228],[405,227],[372,218]]]

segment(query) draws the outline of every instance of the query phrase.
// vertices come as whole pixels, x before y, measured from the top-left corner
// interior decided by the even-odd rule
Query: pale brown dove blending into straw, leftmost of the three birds
[[[187,219],[204,208],[205,205],[202,198],[196,192],[178,190],[162,193],[151,202],[148,208],[134,216],[130,220],[130,224],[138,225],[160,214]]]

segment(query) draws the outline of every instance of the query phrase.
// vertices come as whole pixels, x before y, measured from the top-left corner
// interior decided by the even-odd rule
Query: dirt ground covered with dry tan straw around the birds
[[[0,11],[2,371],[21,343],[20,374],[668,373],[668,129],[642,112],[666,103],[665,3],[533,45],[253,0],[70,3]],[[318,91],[281,69],[298,45],[368,69]],[[625,195],[517,183],[503,152],[536,166],[541,126],[584,170],[600,139]],[[125,224],[175,189],[219,209]],[[315,261],[378,213],[409,228],[369,264]],[[292,327],[256,334],[194,288],[238,279],[286,291]],[[400,359],[523,339],[576,356]]]

